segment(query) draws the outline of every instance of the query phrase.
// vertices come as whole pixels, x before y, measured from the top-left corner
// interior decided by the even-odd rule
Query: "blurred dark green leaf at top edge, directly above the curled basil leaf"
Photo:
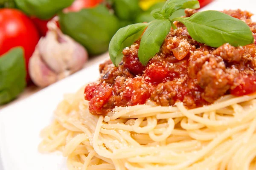
[[[120,20],[134,20],[141,11],[139,0],[114,0],[113,8]]]

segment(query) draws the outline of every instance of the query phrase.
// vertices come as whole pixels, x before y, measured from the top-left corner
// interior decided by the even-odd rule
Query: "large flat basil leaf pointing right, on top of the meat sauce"
[[[253,43],[253,34],[244,21],[219,11],[202,11],[187,18],[176,18],[173,21],[183,23],[190,36],[211,47],[224,43],[233,46],[244,46]]]

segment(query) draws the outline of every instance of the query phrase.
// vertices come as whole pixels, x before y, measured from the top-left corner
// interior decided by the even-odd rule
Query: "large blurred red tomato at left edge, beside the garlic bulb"
[[[0,55],[9,49],[22,46],[25,51],[26,70],[29,58],[39,40],[38,31],[33,22],[17,9],[0,9]],[[29,75],[27,74],[27,81]]]

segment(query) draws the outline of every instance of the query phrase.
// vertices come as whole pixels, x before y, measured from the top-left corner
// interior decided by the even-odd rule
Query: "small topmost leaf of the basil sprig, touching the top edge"
[[[168,19],[178,9],[200,8],[198,0],[167,0],[163,6],[165,18]]]

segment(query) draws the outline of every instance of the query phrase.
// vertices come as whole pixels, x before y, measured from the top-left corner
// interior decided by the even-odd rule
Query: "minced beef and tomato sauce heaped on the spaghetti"
[[[196,12],[185,11],[186,17]],[[251,13],[223,12],[246,22],[256,39]],[[256,91],[256,43],[212,48],[193,40],[182,23],[176,25],[178,29],[170,30],[159,53],[146,66],[138,59],[140,40],[123,49],[118,68],[111,61],[100,65],[101,78],[84,91],[91,113],[106,114],[116,106],[145,104],[148,99],[161,106],[180,101],[187,108],[196,108],[225,94],[241,96]]]

